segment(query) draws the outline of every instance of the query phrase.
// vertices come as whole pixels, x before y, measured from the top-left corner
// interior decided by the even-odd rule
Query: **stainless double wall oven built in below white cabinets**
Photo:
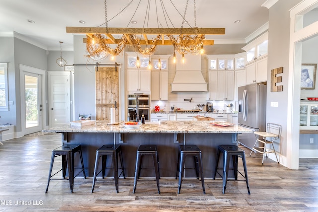
[[[138,99],[137,99],[138,98]],[[149,121],[150,118],[150,98],[148,94],[129,94],[128,95],[128,113],[131,121],[136,121],[138,102],[138,114],[139,119],[142,113],[144,113],[145,120]]]

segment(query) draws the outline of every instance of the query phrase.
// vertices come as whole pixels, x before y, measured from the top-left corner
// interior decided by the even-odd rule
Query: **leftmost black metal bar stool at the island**
[[[81,162],[81,171],[79,173],[83,172],[84,177],[86,179],[81,146],[78,144],[65,144],[63,146],[60,146],[60,147],[52,150],[49,179],[48,179],[48,185],[46,187],[45,193],[48,192],[49,183],[51,180],[64,180],[65,179],[66,168],[68,169],[68,174],[69,174],[68,180],[70,183],[70,190],[71,190],[71,193],[73,193],[74,178],[79,175],[79,173],[78,173],[77,175],[74,176],[74,154],[76,152],[79,152],[80,162]],[[58,156],[62,156],[62,169],[57,171],[55,174],[51,175],[53,163],[54,163],[54,158],[58,157]],[[60,171],[62,171],[63,179],[51,179],[54,175],[56,175]]]

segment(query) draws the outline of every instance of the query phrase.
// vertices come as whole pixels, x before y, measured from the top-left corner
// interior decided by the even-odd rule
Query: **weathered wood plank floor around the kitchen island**
[[[51,181],[45,194],[52,149],[61,135],[22,137],[0,145],[0,211],[318,211],[318,159],[300,159],[299,170],[246,150],[251,194],[244,181],[228,181],[222,194],[222,180],[186,180],[177,195],[177,180],[142,179],[133,194],[133,178],[119,180],[119,193],[110,178],[96,182],[75,178],[74,193],[68,181]],[[244,147],[242,147],[244,148]],[[55,163],[58,163],[58,160]],[[239,170],[243,171],[241,160]],[[242,177],[239,177],[242,179]]]

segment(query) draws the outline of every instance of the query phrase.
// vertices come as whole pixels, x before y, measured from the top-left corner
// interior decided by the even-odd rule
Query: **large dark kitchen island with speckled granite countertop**
[[[124,122],[123,122],[124,123]],[[62,144],[81,144],[87,176],[93,176],[96,150],[104,144],[120,144],[124,158],[127,177],[133,177],[135,171],[136,151],[141,144],[158,146],[161,177],[175,177],[179,145],[197,145],[202,151],[203,173],[211,178],[215,169],[216,151],[219,145],[236,145],[239,133],[252,133],[251,130],[237,126],[216,126],[211,121],[160,121],[146,123],[138,129],[127,129],[123,123],[109,125],[105,121],[96,121],[87,126],[67,124],[43,132],[62,134]],[[48,152],[48,154],[51,154]],[[187,167],[194,167],[188,158]],[[146,161],[147,160],[147,161]],[[110,160],[107,160],[107,164]],[[79,166],[79,160],[75,166]],[[151,167],[152,160],[143,164]],[[107,170],[106,170],[107,171]],[[108,173],[106,173],[106,176]],[[112,176],[110,171],[109,176]],[[143,170],[141,177],[154,176],[153,170]],[[185,177],[194,177],[195,171],[187,171]]]

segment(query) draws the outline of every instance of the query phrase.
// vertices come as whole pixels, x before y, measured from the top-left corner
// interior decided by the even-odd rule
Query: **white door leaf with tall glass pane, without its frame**
[[[24,134],[42,130],[42,89],[41,75],[22,72],[22,128]]]

